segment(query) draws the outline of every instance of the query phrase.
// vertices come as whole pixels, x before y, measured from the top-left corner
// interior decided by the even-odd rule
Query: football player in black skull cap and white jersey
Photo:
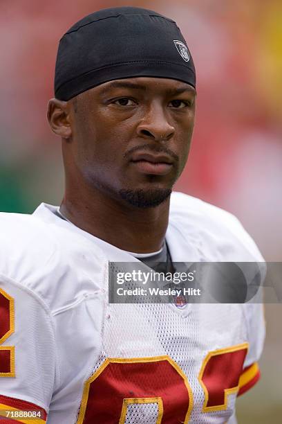
[[[263,260],[232,215],[171,194],[195,101],[171,19],[100,10],[62,37],[48,106],[62,205],[1,216],[4,423],[29,422],[23,411],[50,424],[236,422],[237,394],[259,378],[260,305],[108,301],[109,261]]]

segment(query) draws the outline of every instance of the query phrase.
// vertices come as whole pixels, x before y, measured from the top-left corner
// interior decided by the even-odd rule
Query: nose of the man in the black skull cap
[[[162,105],[151,105],[138,125],[138,136],[154,141],[168,141],[171,139],[175,128],[167,121],[166,115]]]

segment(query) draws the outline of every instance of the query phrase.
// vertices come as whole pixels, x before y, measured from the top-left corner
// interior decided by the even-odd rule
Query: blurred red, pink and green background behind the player
[[[1,0],[0,210],[59,204],[60,141],[49,130],[59,38],[100,8],[175,19],[198,73],[189,161],[176,189],[234,213],[268,261],[282,260],[281,0]],[[238,400],[239,424],[282,422],[282,306],[266,306],[262,378]]]

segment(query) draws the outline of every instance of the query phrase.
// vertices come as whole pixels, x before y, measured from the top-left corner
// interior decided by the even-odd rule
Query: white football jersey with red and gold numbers
[[[0,414],[235,423],[238,392],[259,378],[262,306],[109,303],[109,261],[139,260],[56,210],[0,215]],[[171,195],[166,240],[174,262],[263,261],[233,215],[182,193]]]

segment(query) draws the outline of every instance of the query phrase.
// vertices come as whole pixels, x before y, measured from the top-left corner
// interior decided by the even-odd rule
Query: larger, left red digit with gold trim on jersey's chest
[[[193,396],[170,357],[107,359],[86,382],[77,424],[123,424],[140,403],[158,404],[157,424],[188,423]]]

